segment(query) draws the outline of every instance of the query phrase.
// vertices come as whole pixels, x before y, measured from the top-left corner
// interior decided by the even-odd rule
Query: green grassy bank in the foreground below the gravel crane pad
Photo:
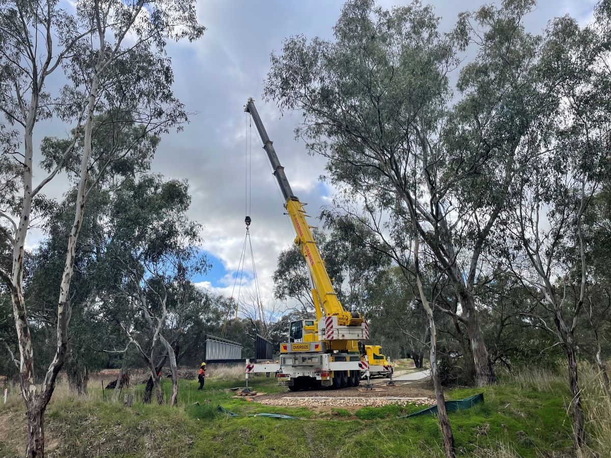
[[[266,393],[285,390],[274,379],[258,377],[251,382]],[[436,416],[397,418],[421,406],[362,407],[354,413],[276,407],[234,399],[232,392],[225,391],[241,385],[243,380],[207,381],[205,389],[197,391],[196,382],[181,381],[178,408],[135,402],[128,409],[108,401],[78,399],[51,404],[47,431],[61,442],[49,456],[380,458],[442,454]],[[163,387],[169,395],[169,381]],[[142,389],[131,391],[138,399]],[[461,399],[482,391],[485,404],[450,414],[460,456],[480,456],[482,449],[494,456],[500,444],[510,444],[522,457],[570,450],[570,422],[565,412],[568,393],[563,387],[544,391],[503,383],[451,390],[447,397]],[[239,416],[218,412],[219,405]],[[262,412],[300,420],[249,416]],[[11,456],[13,451],[0,444],[0,456],[3,452]]]

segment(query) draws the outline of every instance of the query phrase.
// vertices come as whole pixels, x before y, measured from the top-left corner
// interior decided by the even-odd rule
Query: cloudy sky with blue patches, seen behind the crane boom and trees
[[[379,3],[391,7],[407,2]],[[452,27],[460,11],[483,4],[473,0],[431,3],[445,30]],[[332,190],[318,181],[324,161],[308,156],[304,145],[293,139],[298,114],[280,117],[277,107],[266,104],[261,95],[269,54],[281,49],[282,40],[293,34],[331,38],[342,4],[340,0],[200,0],[197,9],[207,32],[199,42],[169,46],[175,93],[197,114],[183,132],[164,137],[153,171],[189,181],[190,216],[203,225],[202,250],[213,265],[207,275],[196,279],[200,285],[232,293],[245,230],[244,159],[250,134],[243,106],[249,96],[256,100],[293,191],[309,203],[309,213],[318,214],[329,201]],[[586,22],[593,5],[591,0],[540,1],[527,18],[527,27],[540,32],[549,19],[567,13]],[[63,136],[64,127],[51,123],[38,133],[45,134]],[[262,296],[269,300],[277,256],[291,245],[294,234],[254,126],[251,173],[252,244]],[[63,189],[64,182],[59,179],[47,194],[59,195]],[[40,234],[32,234],[31,245],[37,237]],[[249,263],[247,258],[247,267]],[[251,271],[246,269],[245,289],[252,287]]]

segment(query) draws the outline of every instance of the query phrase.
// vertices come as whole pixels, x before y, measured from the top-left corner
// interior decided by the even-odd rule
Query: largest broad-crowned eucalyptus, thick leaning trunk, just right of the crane
[[[334,40],[285,40],[265,86],[281,109],[302,111],[297,134],[328,159],[329,179],[345,190],[338,205],[373,222],[413,220],[455,289],[480,385],[496,376],[473,288],[519,170],[516,150],[541,111],[533,96],[540,38],[523,24],[532,7],[486,6],[442,34],[433,9],[419,2],[387,11],[349,1]],[[452,106],[448,75],[467,45],[475,57]],[[358,208],[365,198],[371,214]]]

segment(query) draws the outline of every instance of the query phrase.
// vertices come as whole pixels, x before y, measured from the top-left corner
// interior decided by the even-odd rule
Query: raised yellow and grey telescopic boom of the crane
[[[284,173],[284,167],[280,165],[276,150],[274,150],[273,142],[269,139],[265,127],[257,108],[255,107],[254,100],[249,98],[246,104],[246,112],[249,112],[252,116],[252,120],[255,122],[257,131],[263,141],[263,149],[268,155],[269,162],[274,170],[274,176],[280,186],[280,191],[285,198],[285,208],[291,218],[293,227],[297,237],[295,238],[295,244],[299,245],[301,255],[304,256],[305,263],[310,271],[312,277],[312,283],[314,288],[312,289],[312,297],[316,307],[316,319],[320,319],[324,316],[337,316],[337,323],[339,325],[360,325],[363,322],[362,316],[358,313],[350,313],[344,310],[337,294],[331,284],[331,278],[327,274],[327,270],[324,267],[323,258],[318,251],[318,246],[312,236],[312,227],[307,224],[305,219],[306,214],[299,198],[293,194],[290,184],[288,184],[287,175]]]

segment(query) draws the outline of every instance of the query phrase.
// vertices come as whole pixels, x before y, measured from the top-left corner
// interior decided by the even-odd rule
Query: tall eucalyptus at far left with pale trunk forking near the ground
[[[1,214],[2,233],[12,245],[12,266],[10,272],[2,269],[0,277],[12,296],[20,349],[20,385],[29,430],[27,456],[44,454],[43,416],[67,354],[70,281],[86,198],[109,163],[120,156],[118,151],[104,159],[93,154],[94,114],[103,107],[106,112],[116,112],[115,108],[120,106],[136,119],[142,116],[156,120],[152,124],[162,130],[184,121],[184,108],[169,87],[172,71],[164,48],[168,39],[196,39],[203,30],[197,23],[192,0],[131,3],[81,0],[76,2],[72,14],[54,0],[0,4],[0,110],[19,131],[23,142],[23,150],[4,152],[20,167],[16,174],[18,189],[5,197],[12,205],[8,211],[3,208]],[[125,84],[122,73],[126,70],[140,71],[142,78],[130,79]],[[64,73],[67,84],[52,94],[46,81],[57,72]],[[34,184],[34,129],[40,120],[54,116],[73,126],[71,139],[51,161],[48,174]],[[168,119],[172,122],[164,121]],[[75,214],[58,285],[56,352],[38,390],[28,307],[23,295],[26,236],[32,216],[41,213],[36,202],[43,200],[40,191],[75,154],[79,164]],[[92,169],[93,165],[96,167]]]

